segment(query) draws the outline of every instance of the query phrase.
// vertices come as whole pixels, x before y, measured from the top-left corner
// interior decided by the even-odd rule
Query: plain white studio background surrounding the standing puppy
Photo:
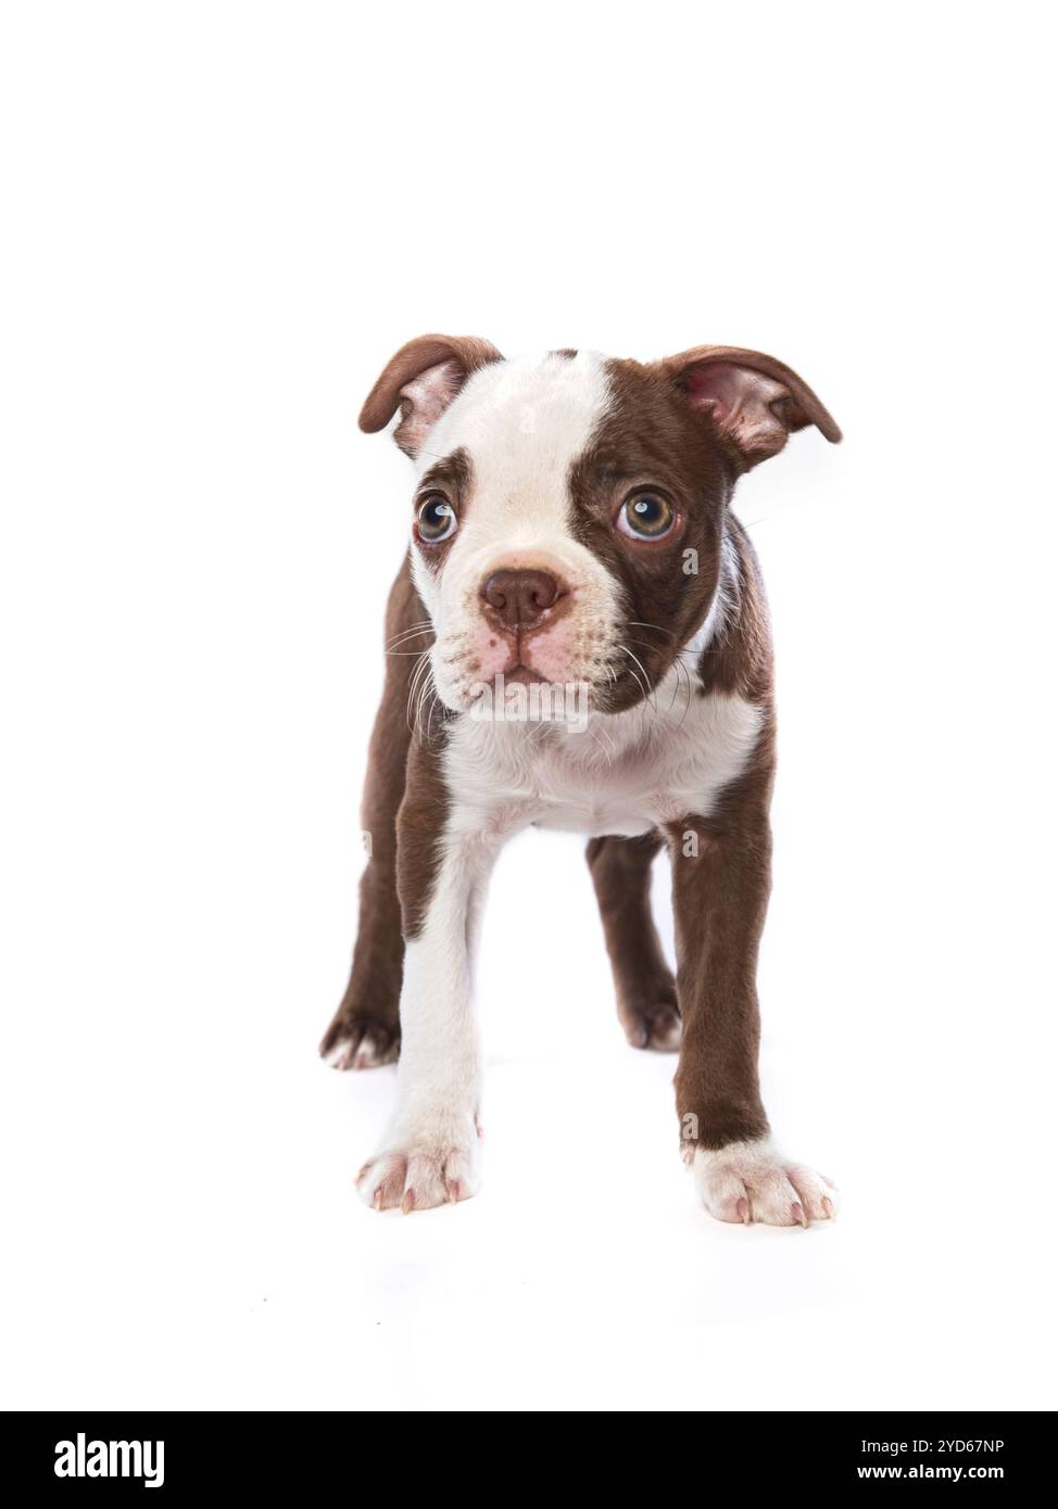
[[[1044,15],[3,8],[3,1403],[1053,1408]],[[696,1207],[551,834],[483,1192],[355,1198],[394,1070],[315,1044],[411,478],[355,418],[424,330],[759,347],[845,430],[740,495],[765,1099],[833,1228]]]

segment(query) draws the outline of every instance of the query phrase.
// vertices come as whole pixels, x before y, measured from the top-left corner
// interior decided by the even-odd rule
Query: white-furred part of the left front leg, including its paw
[[[376,1210],[424,1210],[477,1189],[481,1064],[472,951],[498,848],[494,837],[448,831],[426,919],[406,943],[397,1108],[383,1150],[356,1180]]]

